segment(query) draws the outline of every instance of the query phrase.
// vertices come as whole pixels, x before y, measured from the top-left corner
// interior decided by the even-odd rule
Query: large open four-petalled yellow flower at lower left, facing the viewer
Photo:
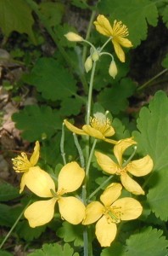
[[[36,201],[27,207],[24,212],[32,228],[47,224],[54,214],[55,203],[59,204],[61,218],[70,224],[79,224],[85,216],[84,204],[74,196],[64,197],[69,192],[74,192],[81,186],[85,177],[84,170],[76,163],[65,165],[59,172],[58,190],[50,175],[46,172],[39,174],[39,179],[31,180],[33,189],[31,191],[40,197],[49,197],[49,200]],[[39,181],[42,183],[39,183]]]

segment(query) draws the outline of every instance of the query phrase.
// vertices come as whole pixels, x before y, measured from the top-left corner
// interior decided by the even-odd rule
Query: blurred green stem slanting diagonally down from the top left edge
[[[55,32],[53,32],[53,28],[51,26],[49,26],[49,24],[48,24],[48,19],[46,19],[46,17],[44,15],[42,15],[42,13],[39,11],[38,4],[36,4],[33,0],[25,0],[25,1],[31,7],[31,9],[36,13],[38,19],[41,20],[43,26],[46,28],[46,30],[47,30],[48,34],[51,36],[51,38],[53,38],[53,42],[57,45],[59,52],[61,53],[61,55],[63,55],[64,60],[69,65],[71,71],[72,72],[76,71],[75,62],[70,58],[69,55],[67,55],[67,53],[64,50],[64,48],[62,47],[62,45],[59,44],[59,39],[57,38]],[[81,84],[83,85],[85,92],[87,92],[88,85],[87,85],[87,80],[85,78],[85,75],[83,73],[77,73],[77,72],[76,72],[76,74],[81,79]]]

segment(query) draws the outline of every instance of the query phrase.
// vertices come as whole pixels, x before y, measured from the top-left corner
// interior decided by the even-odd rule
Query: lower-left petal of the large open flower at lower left
[[[25,218],[28,219],[31,228],[47,224],[54,214],[54,198],[47,201],[36,201],[24,212]]]

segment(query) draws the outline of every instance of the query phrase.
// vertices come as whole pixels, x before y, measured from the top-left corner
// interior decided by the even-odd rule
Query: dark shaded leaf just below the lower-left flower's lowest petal
[[[16,226],[16,232],[19,234],[20,238],[25,239],[25,241],[33,241],[35,238],[41,236],[42,232],[46,230],[46,226],[31,228],[27,220],[19,222]]]

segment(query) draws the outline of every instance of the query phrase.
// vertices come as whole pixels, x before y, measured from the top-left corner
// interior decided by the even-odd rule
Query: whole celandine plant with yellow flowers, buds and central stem
[[[90,55],[87,57],[84,66],[87,73],[91,72],[91,78],[86,121],[83,121],[86,124],[79,128],[64,119],[60,147],[64,166],[59,172],[57,183],[54,182],[53,177],[48,172],[42,170],[37,164],[40,154],[38,142],[36,142],[30,160],[28,160],[25,153],[13,159],[15,172],[23,173],[20,193],[27,187],[32,193],[40,197],[38,201],[32,202],[25,209],[24,215],[30,226],[35,228],[48,224],[52,221],[55,211],[59,212],[63,221],[72,225],[79,224],[81,230],[83,230],[83,248],[74,247],[75,254],[73,255],[85,256],[99,255],[102,250],[101,247],[112,248],[113,242],[117,241],[116,236],[122,236],[120,235],[122,233],[121,224],[141,216],[143,203],[140,201],[143,201],[145,189],[141,185],[142,180],[138,183],[137,178],[135,180],[132,176],[143,177],[152,172],[154,166],[149,155],[145,155],[141,159],[134,159],[138,145],[133,137],[119,141],[113,139],[115,129],[108,111],[105,113],[92,112],[94,74],[97,62],[101,61],[102,55],[111,57],[109,75],[115,79],[118,72],[114,56],[105,52],[104,47],[111,41],[114,45],[115,54],[121,62],[125,61],[125,53],[122,47],[132,47],[132,43],[126,38],[128,36],[127,27],[121,21],[115,20],[113,26],[111,26],[104,15],[98,15],[94,25],[99,33],[108,37],[102,47],[95,48],[93,44],[74,32],[68,32],[65,35],[70,41],[90,45]],[[71,161],[67,163],[65,159],[64,125],[73,132],[80,162]],[[85,137],[82,141],[82,144],[85,143],[84,148],[81,148],[76,135]],[[102,143],[108,143],[111,148],[110,155],[100,152],[98,149],[95,150],[99,140]],[[125,151],[127,152],[126,156],[124,155]],[[92,169],[95,169],[95,166],[98,168],[97,177],[104,176],[99,185],[92,180]],[[94,183],[94,188],[91,188],[92,183]],[[95,187],[96,184],[97,187]],[[140,199],[139,195],[141,195]],[[58,207],[55,207],[57,203]],[[59,210],[56,210],[58,208]],[[131,230],[132,233],[135,232],[133,228]],[[115,249],[111,252],[106,251],[106,254],[104,252],[103,249],[101,255],[117,255]],[[67,255],[72,254],[67,253]]]

